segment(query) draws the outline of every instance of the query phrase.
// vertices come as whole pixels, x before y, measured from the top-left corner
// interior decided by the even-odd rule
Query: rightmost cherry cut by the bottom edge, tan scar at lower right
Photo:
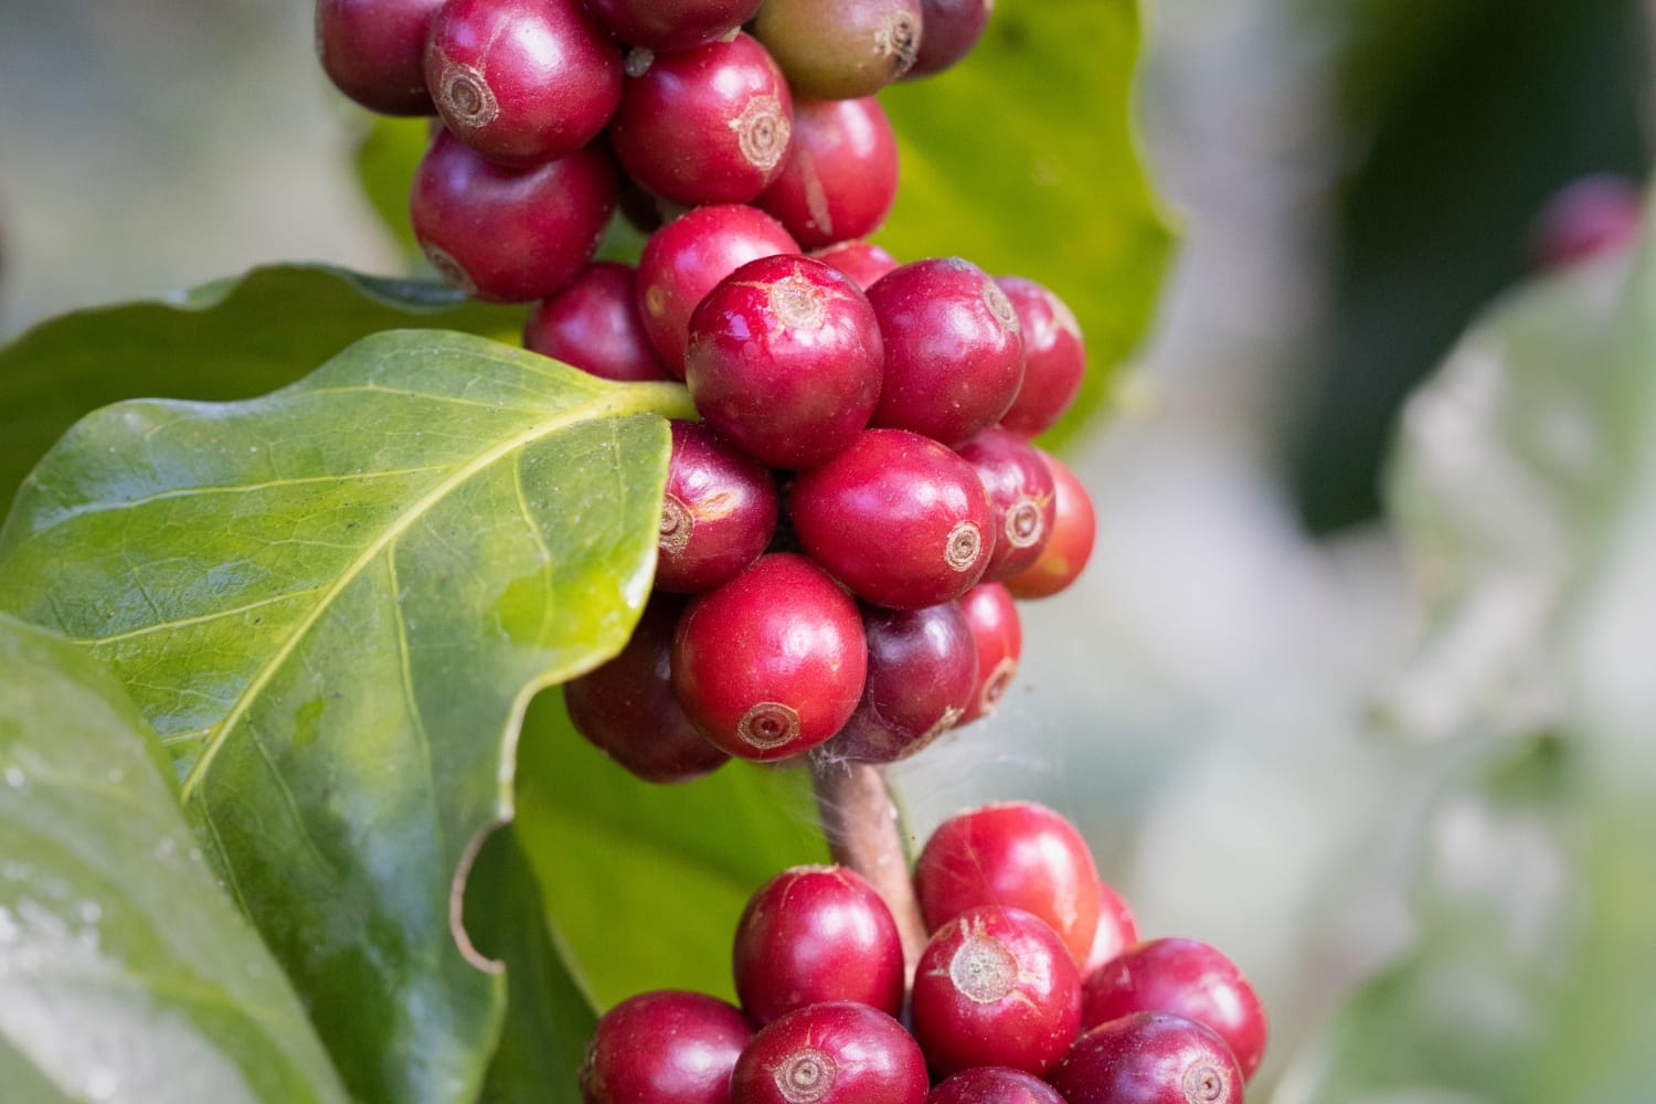
[[[1242,1069],[1209,1028],[1136,1013],[1075,1041],[1047,1081],[1068,1104],[1242,1104]]]

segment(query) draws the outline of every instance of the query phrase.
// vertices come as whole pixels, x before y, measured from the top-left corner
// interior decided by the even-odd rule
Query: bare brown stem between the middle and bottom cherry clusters
[[[811,783],[833,861],[861,874],[884,897],[898,922],[903,962],[912,980],[914,965],[926,948],[926,924],[914,900],[909,859],[898,831],[898,808],[884,775],[873,763],[811,756]]]

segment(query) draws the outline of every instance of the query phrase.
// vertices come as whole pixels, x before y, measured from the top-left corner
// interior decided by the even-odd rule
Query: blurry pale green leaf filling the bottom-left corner
[[[0,616],[0,1096],[343,1104],[119,684]]]

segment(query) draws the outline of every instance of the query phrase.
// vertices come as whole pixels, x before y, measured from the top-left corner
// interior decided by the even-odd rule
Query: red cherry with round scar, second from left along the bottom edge
[[[760,1028],[730,1076],[730,1104],[924,1104],[926,1059],[903,1025],[828,1001]]]

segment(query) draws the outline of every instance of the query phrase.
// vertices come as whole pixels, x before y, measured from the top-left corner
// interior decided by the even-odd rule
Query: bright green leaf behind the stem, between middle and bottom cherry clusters
[[[643,783],[570,727],[563,694],[535,698],[523,722],[517,833],[599,1006],[659,988],[734,998],[747,899],[790,866],[828,861],[805,770],[729,763]]]

